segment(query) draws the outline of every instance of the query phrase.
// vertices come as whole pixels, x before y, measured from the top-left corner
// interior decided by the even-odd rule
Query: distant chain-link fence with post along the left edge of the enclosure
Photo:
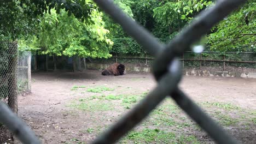
[[[17,41],[0,43],[0,100],[18,113],[18,95],[31,92],[31,52],[18,52]],[[0,139],[12,136],[0,124]]]

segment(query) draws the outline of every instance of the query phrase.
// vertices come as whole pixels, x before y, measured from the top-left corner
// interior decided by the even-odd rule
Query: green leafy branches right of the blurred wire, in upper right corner
[[[212,29],[208,44],[213,51],[256,52],[256,1],[247,1]]]

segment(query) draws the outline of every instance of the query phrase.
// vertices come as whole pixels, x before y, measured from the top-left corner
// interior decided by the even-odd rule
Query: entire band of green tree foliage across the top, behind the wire
[[[128,16],[166,43],[212,0],[114,0]],[[256,0],[248,1],[207,34],[211,51],[256,51]],[[19,39],[20,51],[68,57],[140,55],[142,47],[92,0],[10,0],[0,2],[0,40]]]

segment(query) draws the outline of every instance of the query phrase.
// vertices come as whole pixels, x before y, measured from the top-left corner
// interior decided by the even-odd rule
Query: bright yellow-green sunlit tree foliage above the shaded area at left
[[[27,47],[40,49],[39,54],[110,57],[113,42],[107,38],[109,31],[104,29],[102,13],[94,9],[90,17],[94,23],[81,22],[64,10],[60,14],[51,10],[51,14],[44,14],[40,19],[37,36],[26,41]]]

